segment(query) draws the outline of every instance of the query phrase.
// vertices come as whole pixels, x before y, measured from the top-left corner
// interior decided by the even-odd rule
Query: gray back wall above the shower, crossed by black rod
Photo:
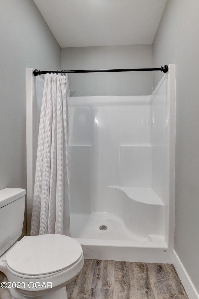
[[[61,49],[61,68],[133,69],[152,67],[151,45]],[[149,95],[151,72],[68,74],[71,96]]]

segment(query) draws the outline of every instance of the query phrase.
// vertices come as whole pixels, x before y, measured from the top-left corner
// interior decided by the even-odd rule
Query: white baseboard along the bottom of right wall
[[[189,299],[199,299],[199,294],[194,287],[190,277],[187,274],[187,271],[185,270],[181,260],[178,257],[178,254],[175,252],[173,253],[173,264],[176,269],[176,272],[178,273],[178,276],[183,284],[183,287],[185,291],[187,292],[187,295]]]

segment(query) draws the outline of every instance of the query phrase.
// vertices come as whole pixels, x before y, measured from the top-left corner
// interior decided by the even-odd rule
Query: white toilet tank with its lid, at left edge
[[[25,189],[0,190],[0,256],[21,236],[25,209]]]

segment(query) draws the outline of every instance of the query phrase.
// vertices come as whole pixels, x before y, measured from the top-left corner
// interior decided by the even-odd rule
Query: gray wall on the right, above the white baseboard
[[[176,66],[175,250],[199,291],[199,1],[168,0],[153,66]],[[155,72],[154,72],[155,73]],[[154,74],[154,87],[161,74]]]

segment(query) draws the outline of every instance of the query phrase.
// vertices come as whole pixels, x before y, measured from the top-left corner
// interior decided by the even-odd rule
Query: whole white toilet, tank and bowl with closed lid
[[[0,272],[5,275],[0,283],[7,286],[1,289],[2,298],[67,299],[66,285],[84,264],[81,245],[56,234],[25,236],[16,242],[24,208],[25,189],[0,190]]]

